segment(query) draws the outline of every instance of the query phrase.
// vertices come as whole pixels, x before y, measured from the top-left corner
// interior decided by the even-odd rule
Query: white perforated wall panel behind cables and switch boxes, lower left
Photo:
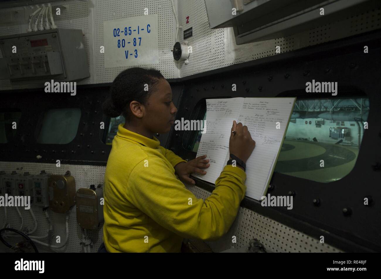
[[[5,170],[6,173],[11,173],[16,170],[18,173],[30,172],[31,174],[38,174],[41,170],[45,170],[47,173],[63,175],[67,170],[70,170],[71,175],[75,178],[75,188],[88,188],[91,184],[103,184],[104,182],[104,172],[106,167],[103,166],[81,166],[81,165],[63,165],[61,167],[56,167],[56,164],[36,164],[36,163],[26,163],[26,162],[0,162],[0,170]],[[36,216],[38,227],[33,235],[43,236],[46,234],[48,229],[48,222],[46,221],[45,213],[43,213],[42,208],[38,206],[31,206],[34,214]],[[24,225],[27,225],[30,229],[34,227],[33,219],[28,210],[24,208],[19,208],[21,214],[24,218]],[[55,241],[57,235],[61,236],[61,243],[64,242],[66,238],[66,227],[65,227],[65,214],[53,213],[51,210],[48,211],[50,215],[50,221],[53,224],[54,235],[52,241]],[[4,208],[0,207],[0,227],[3,226],[4,222]],[[21,225],[21,219],[16,211],[16,208],[7,207],[7,222],[11,224],[14,229],[19,229]],[[103,231],[102,224],[97,230],[91,230],[89,234],[93,244],[91,245],[91,252],[98,251],[99,246],[103,241]],[[70,218],[69,218],[69,240],[67,242],[66,248],[56,249],[57,252],[83,252],[82,246],[79,244],[82,239],[81,229],[77,223],[75,206],[73,206]],[[20,240],[20,238],[10,238],[9,242],[15,244]],[[46,239],[40,240],[47,243]],[[53,245],[59,245],[53,242]],[[42,246],[41,244],[36,244],[38,251],[40,252],[52,252],[48,247]],[[6,248],[6,252],[10,249]]]

